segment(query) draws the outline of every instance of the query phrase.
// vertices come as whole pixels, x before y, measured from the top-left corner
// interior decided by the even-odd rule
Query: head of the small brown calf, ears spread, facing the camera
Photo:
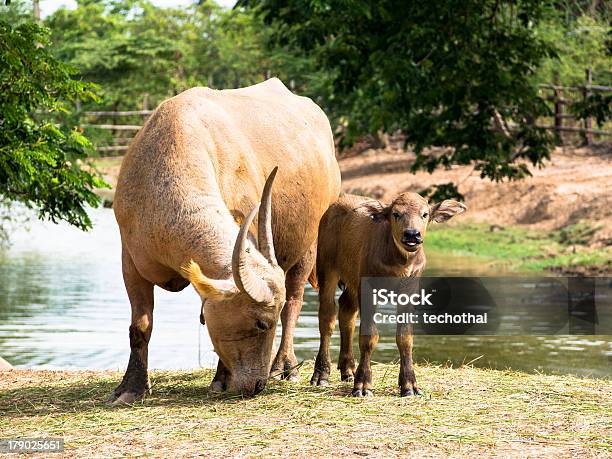
[[[430,221],[445,222],[467,209],[465,204],[452,199],[430,205],[417,193],[402,193],[388,206],[378,201],[367,201],[359,208],[363,208],[375,222],[388,222],[395,245],[406,252],[419,249]]]

